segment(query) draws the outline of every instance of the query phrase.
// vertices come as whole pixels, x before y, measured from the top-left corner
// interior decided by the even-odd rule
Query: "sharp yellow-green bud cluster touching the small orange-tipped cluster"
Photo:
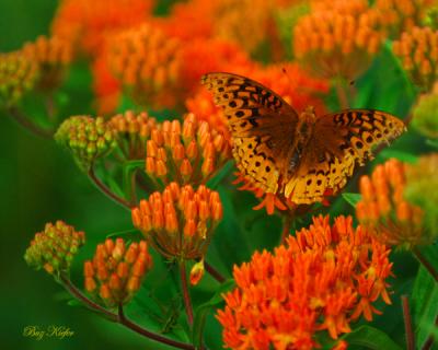
[[[61,124],[55,139],[70,150],[84,170],[111,152],[116,144],[115,131],[102,117],[70,117]]]

